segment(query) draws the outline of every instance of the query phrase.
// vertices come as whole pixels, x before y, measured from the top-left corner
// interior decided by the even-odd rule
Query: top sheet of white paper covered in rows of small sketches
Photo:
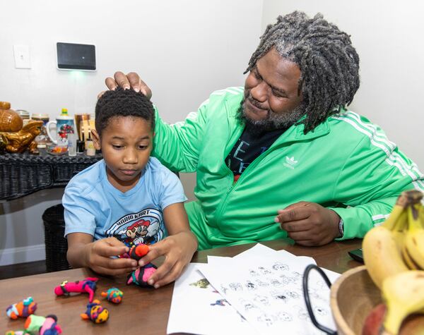
[[[253,249],[253,248],[252,248]],[[310,321],[302,293],[302,274],[310,257],[296,257],[255,246],[243,255],[208,257],[201,272],[257,334],[323,334]],[[333,282],[339,274],[325,270]],[[310,273],[310,297],[319,323],[336,329],[329,307],[329,288],[317,272]]]

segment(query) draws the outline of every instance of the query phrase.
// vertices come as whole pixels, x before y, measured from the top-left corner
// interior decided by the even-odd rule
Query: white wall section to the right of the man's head
[[[424,171],[424,2],[415,0],[264,0],[262,31],[295,10],[351,35],[361,84],[350,108],[381,126]]]

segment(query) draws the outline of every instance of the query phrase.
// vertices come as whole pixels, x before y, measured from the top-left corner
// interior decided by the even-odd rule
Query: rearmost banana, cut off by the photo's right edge
[[[420,221],[420,203],[408,207],[408,232],[405,236],[405,252],[413,264],[424,269],[424,229]]]

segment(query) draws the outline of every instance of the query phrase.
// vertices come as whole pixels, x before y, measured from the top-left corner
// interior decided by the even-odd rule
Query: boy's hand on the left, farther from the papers
[[[111,258],[122,255],[129,250],[117,238],[103,238],[86,245],[86,266],[99,274],[125,274],[134,271],[137,261],[131,258]]]

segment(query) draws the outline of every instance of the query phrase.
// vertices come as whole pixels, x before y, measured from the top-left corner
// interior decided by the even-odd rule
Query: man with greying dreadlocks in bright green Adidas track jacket
[[[184,123],[156,114],[153,155],[174,171],[196,171],[198,200],[186,209],[199,249],[361,238],[403,190],[424,190],[416,165],[346,109],[359,87],[359,57],[322,15],[279,16],[247,71],[244,90],[213,92]],[[151,96],[136,73],[106,84]]]

